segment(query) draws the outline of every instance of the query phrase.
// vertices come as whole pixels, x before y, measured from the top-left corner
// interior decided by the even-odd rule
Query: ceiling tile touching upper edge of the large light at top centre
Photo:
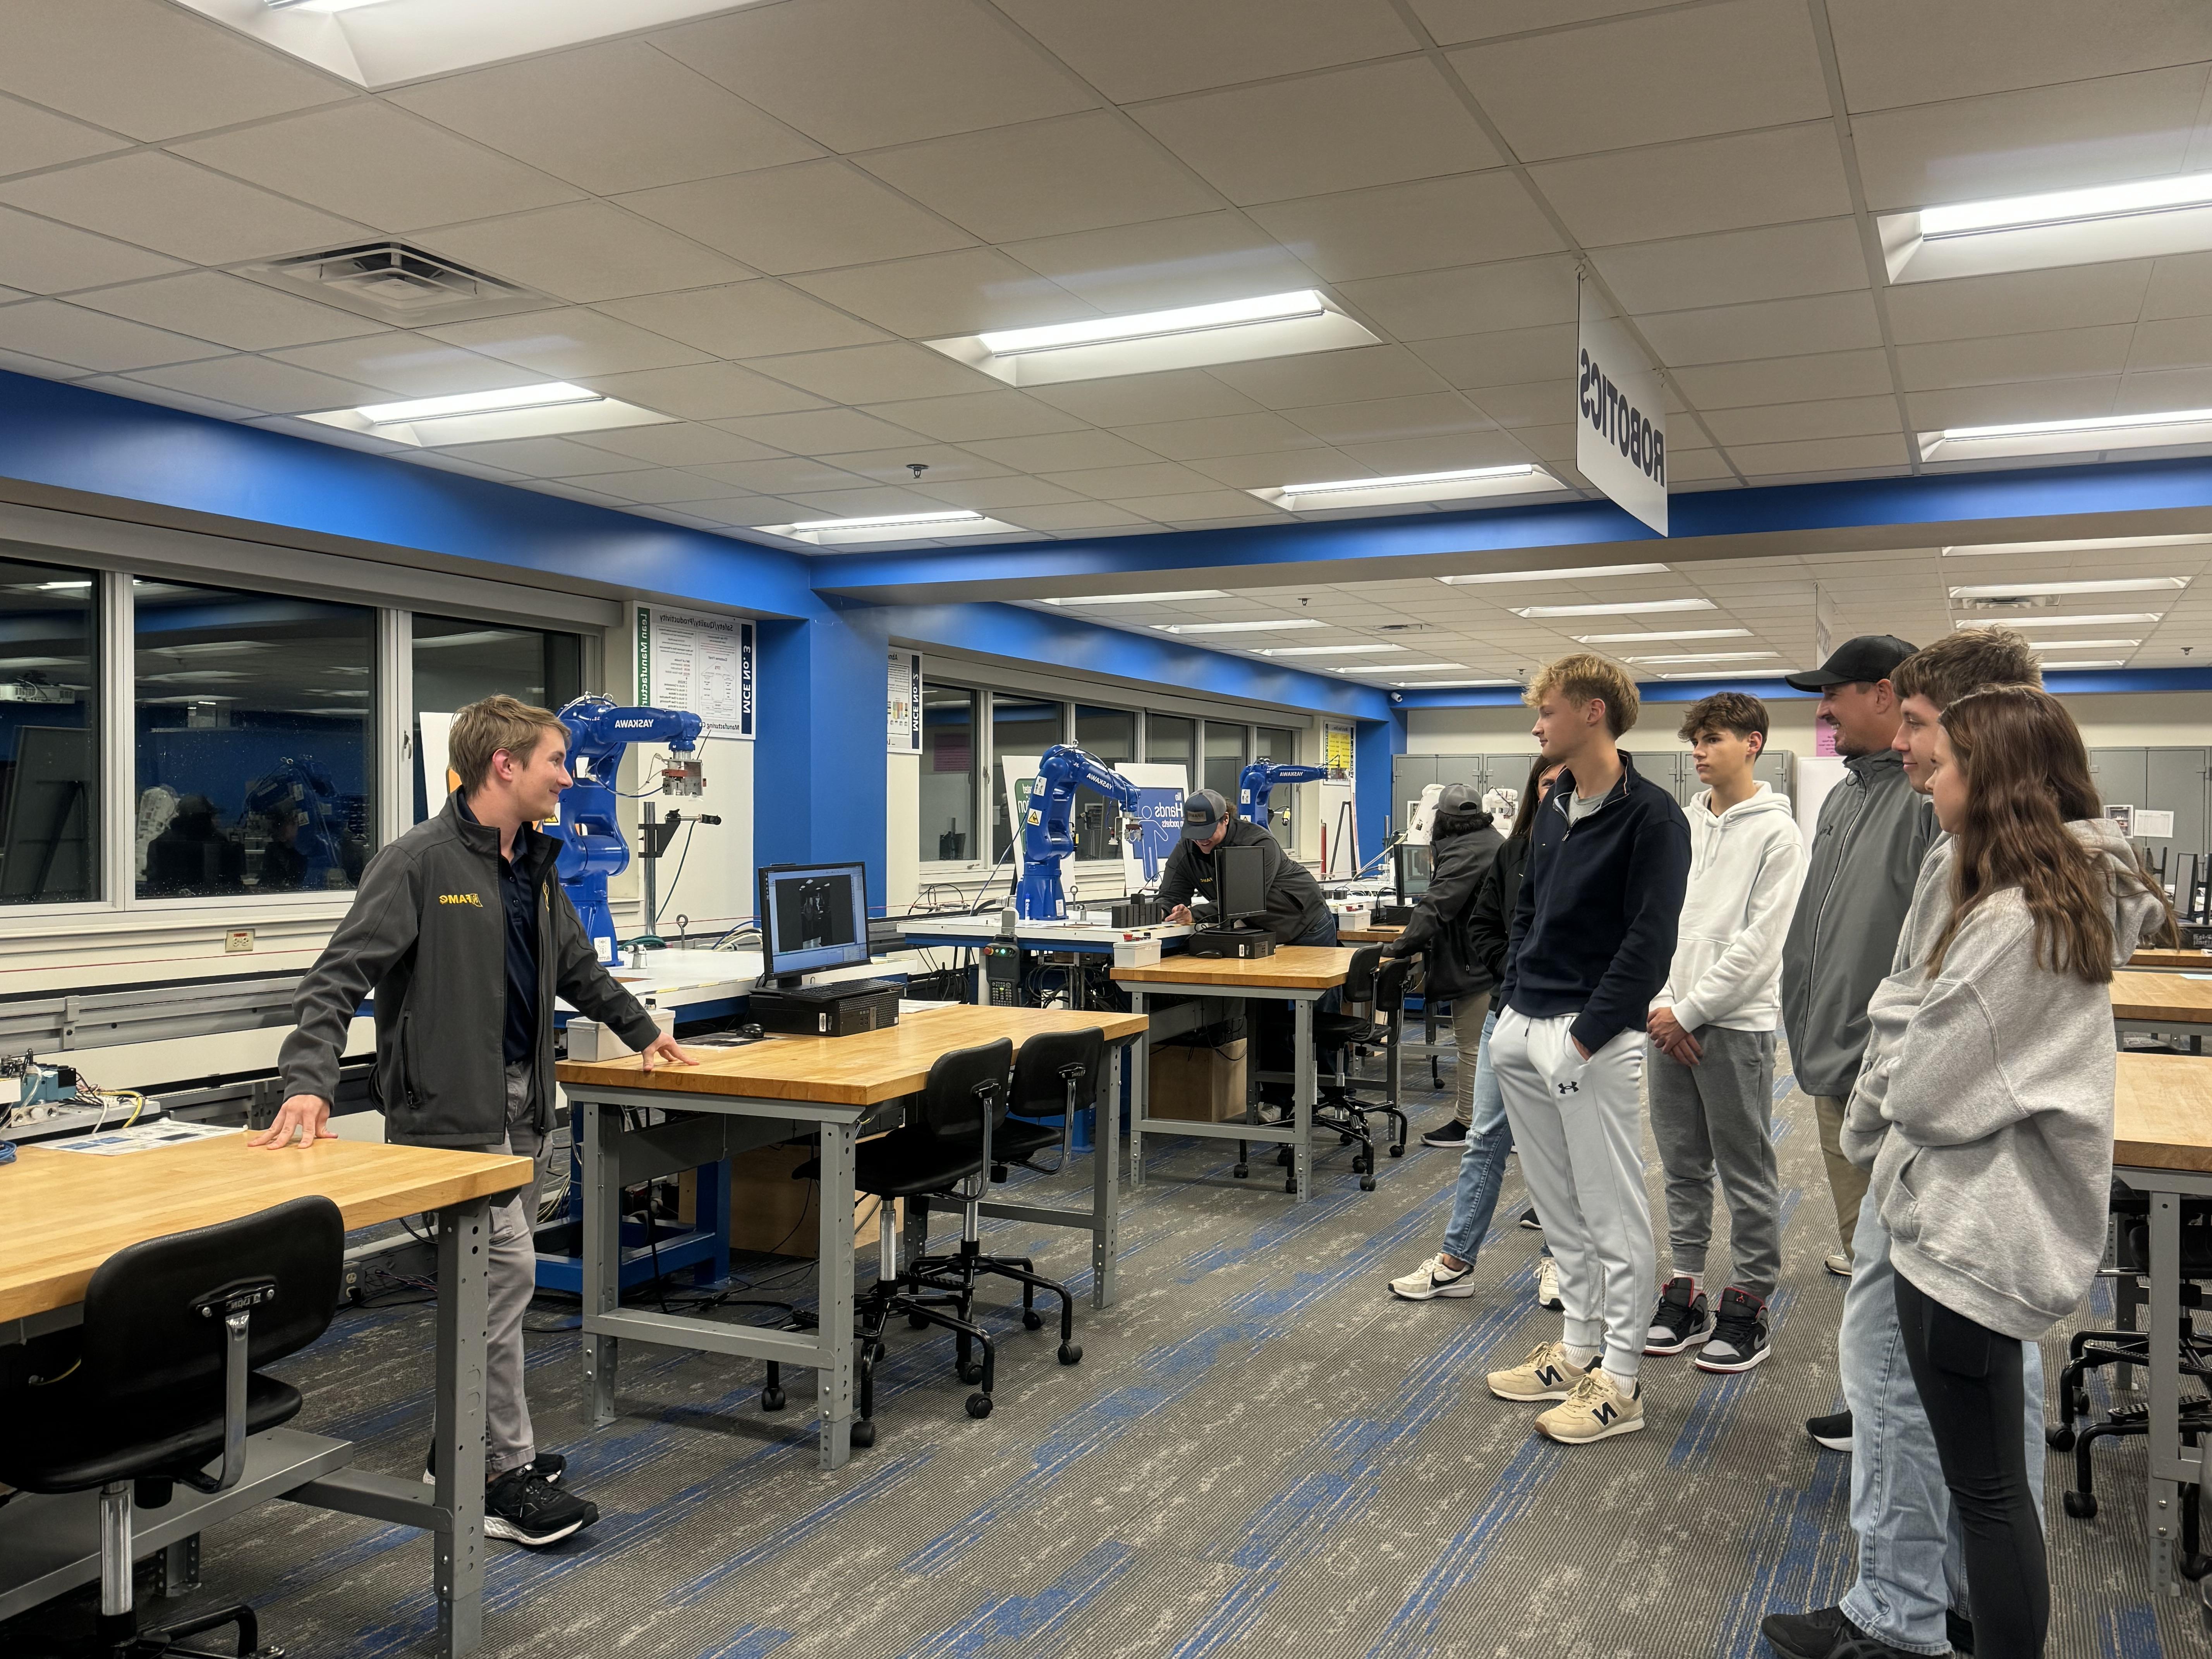
[[[1006,252],[1108,316],[1285,294],[1316,281],[1239,212],[1018,241]]]

